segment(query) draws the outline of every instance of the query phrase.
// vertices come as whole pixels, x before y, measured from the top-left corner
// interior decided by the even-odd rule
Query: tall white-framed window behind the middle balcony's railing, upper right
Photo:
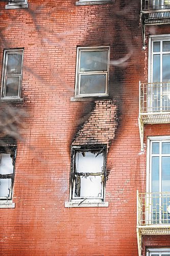
[[[170,110],[170,35],[151,36],[149,40],[148,108]]]

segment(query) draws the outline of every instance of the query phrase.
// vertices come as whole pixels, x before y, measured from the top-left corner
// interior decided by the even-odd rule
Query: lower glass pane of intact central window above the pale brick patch
[[[106,75],[81,75],[80,94],[106,92]]]

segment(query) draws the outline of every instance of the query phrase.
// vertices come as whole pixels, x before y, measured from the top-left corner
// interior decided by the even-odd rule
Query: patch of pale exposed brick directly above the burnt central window
[[[96,100],[90,117],[75,135],[72,145],[106,144],[107,148],[115,137],[118,123],[116,100]]]

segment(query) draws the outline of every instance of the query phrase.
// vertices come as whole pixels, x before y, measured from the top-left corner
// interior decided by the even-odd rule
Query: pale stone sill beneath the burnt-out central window
[[[74,208],[74,207],[108,207],[109,202],[91,202],[91,203],[85,203],[85,202],[65,202],[65,208]]]

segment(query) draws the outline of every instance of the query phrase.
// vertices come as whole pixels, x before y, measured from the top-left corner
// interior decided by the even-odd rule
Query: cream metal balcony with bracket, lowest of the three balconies
[[[137,240],[141,255],[143,235],[170,234],[170,192],[138,193],[137,191]]]

